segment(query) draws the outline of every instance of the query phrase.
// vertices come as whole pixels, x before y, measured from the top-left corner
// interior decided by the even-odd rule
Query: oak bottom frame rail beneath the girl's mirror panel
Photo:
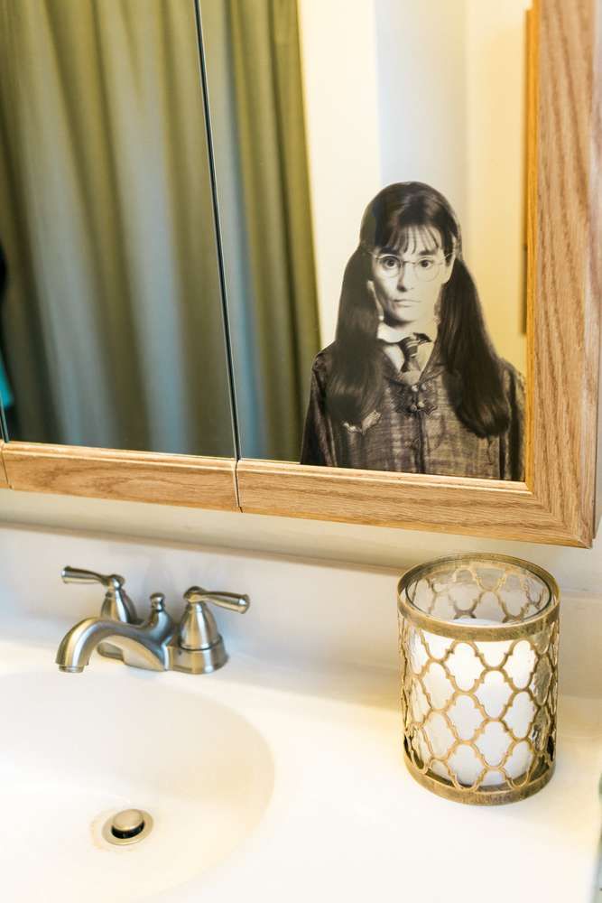
[[[246,513],[587,545],[524,483],[245,459],[236,476]]]

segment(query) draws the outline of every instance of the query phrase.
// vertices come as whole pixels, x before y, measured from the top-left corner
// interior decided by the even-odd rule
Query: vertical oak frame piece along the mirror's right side
[[[600,335],[600,153],[594,112],[597,0],[542,0],[537,234],[531,312],[533,454],[527,481],[591,545]]]

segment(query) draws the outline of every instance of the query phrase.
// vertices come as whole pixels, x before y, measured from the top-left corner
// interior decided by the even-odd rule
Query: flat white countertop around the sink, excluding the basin
[[[0,673],[54,669],[54,651],[51,640],[32,645],[5,638]],[[547,787],[519,803],[478,807],[434,796],[410,777],[391,671],[338,667],[328,674],[310,662],[289,670],[236,653],[205,676],[134,675],[98,656],[89,668],[120,675],[124,693],[144,674],[149,692],[158,682],[231,706],[273,756],[273,795],[254,833],[217,868],[146,900],[594,899],[600,701],[560,697],[557,767]],[[86,680],[86,674],[65,680]]]

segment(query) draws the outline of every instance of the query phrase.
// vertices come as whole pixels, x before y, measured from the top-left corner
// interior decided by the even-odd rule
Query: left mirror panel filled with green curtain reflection
[[[0,0],[8,439],[235,454],[193,0]]]

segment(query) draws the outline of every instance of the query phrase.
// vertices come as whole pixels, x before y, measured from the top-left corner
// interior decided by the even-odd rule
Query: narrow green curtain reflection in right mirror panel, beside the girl
[[[296,0],[200,0],[245,457],[298,461],[320,349]]]

